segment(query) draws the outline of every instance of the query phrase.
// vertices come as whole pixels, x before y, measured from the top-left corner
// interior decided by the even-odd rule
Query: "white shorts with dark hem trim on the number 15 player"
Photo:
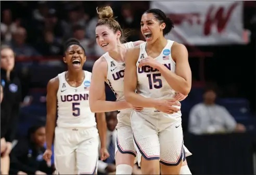
[[[162,112],[150,116],[133,111],[131,125],[137,152],[147,160],[159,159],[164,165],[180,164],[185,157],[181,124],[181,117],[174,120]]]

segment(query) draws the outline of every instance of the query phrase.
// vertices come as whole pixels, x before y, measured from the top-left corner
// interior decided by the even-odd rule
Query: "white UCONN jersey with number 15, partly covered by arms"
[[[155,58],[155,60],[170,71],[175,73],[176,64],[172,59],[171,47],[174,41],[168,40],[167,45],[163,48],[161,54]],[[150,66],[138,67],[140,60],[148,56],[146,52],[146,42],[140,44],[140,53],[137,66],[137,93],[154,99],[173,99],[175,96],[175,91],[170,87],[168,82],[165,80],[158,69],[152,68]],[[146,109],[147,110],[147,109]],[[151,109],[152,110],[152,109]],[[154,110],[154,112],[159,112]],[[172,114],[175,116],[181,116],[181,112]]]

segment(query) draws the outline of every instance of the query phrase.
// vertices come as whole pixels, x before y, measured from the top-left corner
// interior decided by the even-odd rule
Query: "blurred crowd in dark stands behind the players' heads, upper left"
[[[135,17],[147,9],[147,3],[133,7],[130,3],[98,1],[9,3],[10,7],[1,7],[5,8],[1,16],[1,44],[11,46],[17,56],[54,56],[62,55],[63,42],[74,37],[86,50],[86,56],[101,56],[104,52],[95,39],[96,7],[111,5],[120,25],[129,32],[126,39],[135,41],[140,38],[140,25]]]

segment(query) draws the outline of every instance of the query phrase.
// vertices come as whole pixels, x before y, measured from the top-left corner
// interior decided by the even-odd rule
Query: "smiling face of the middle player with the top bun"
[[[96,27],[96,42],[105,51],[109,52],[116,48],[118,45],[119,38],[121,37],[121,32],[116,33],[111,30],[107,25],[99,25]]]

